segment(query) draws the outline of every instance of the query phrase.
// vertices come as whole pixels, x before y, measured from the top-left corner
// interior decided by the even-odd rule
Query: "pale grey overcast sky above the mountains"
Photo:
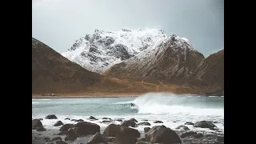
[[[98,30],[160,28],[208,56],[224,48],[224,0],[32,0],[32,37],[59,53]]]

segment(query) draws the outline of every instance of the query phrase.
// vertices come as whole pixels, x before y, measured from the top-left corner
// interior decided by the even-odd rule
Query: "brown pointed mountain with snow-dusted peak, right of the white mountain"
[[[172,35],[138,56],[112,66],[104,75],[180,84],[203,59],[203,55],[194,50],[186,39]]]

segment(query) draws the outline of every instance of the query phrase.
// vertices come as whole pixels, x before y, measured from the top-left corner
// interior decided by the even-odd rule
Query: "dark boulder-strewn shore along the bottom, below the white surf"
[[[59,121],[58,117],[55,115],[46,116],[46,119],[49,118],[53,118],[56,121],[54,123],[54,126],[56,126],[55,129],[44,128],[41,122],[42,119],[32,120],[32,143],[224,143],[224,133],[214,125],[216,122],[186,122],[184,125],[178,126],[175,130],[171,130],[161,121],[154,122],[158,123],[158,126],[151,126],[150,122],[147,122],[147,120],[138,122],[134,118],[100,118],[100,122],[108,123],[106,128],[103,129],[94,123],[96,118],[93,116],[86,121],[83,119],[66,118],[67,123]],[[120,124],[114,124],[114,122]],[[144,127],[143,131],[137,130],[140,126]],[[206,130],[190,130],[188,126],[200,127]],[[212,131],[209,132],[209,130]]]

